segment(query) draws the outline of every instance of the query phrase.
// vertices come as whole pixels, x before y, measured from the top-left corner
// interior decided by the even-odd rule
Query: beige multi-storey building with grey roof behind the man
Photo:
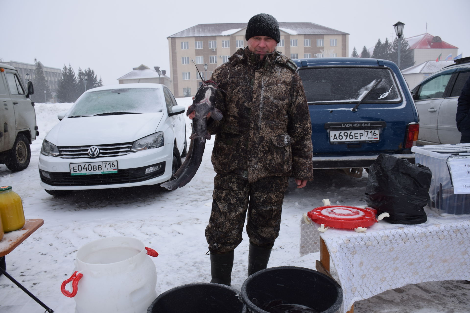
[[[202,83],[193,61],[202,78],[209,79],[217,66],[227,62],[237,49],[247,46],[246,25],[198,24],[167,37],[174,96],[193,96]],[[279,28],[281,41],[276,50],[291,59],[348,56],[348,33],[303,22],[280,22]]]

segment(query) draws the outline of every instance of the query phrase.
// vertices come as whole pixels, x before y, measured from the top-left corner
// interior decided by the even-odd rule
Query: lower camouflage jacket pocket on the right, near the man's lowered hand
[[[292,138],[285,134],[271,137],[272,145],[267,156],[266,170],[273,174],[284,174],[292,169]]]

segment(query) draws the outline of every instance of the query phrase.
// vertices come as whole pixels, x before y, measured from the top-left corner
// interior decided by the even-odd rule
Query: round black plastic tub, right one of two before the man
[[[253,313],[333,313],[343,302],[343,290],[335,280],[313,269],[282,266],[248,277],[241,297]]]

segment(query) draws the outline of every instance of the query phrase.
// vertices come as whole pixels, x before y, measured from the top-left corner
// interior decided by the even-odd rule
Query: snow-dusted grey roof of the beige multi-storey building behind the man
[[[202,37],[202,36],[229,36],[246,28],[247,23],[219,23],[197,24],[184,31],[177,32],[168,38],[175,37]],[[349,35],[343,31],[337,31],[329,27],[309,22],[279,22],[279,28],[290,35]]]

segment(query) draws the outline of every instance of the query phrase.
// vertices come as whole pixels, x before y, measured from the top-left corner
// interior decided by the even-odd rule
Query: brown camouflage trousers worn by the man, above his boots
[[[248,183],[241,176],[217,174],[214,178],[212,212],[205,236],[209,249],[234,250],[242,242],[245,215],[250,241],[274,242],[281,225],[282,200],[289,184],[287,176],[271,176]]]

